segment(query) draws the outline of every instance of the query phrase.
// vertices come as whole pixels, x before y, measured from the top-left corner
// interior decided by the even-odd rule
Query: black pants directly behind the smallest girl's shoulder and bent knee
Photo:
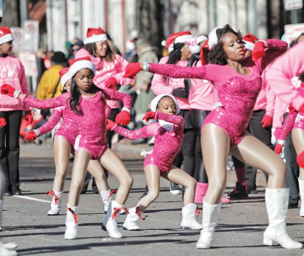
[[[180,168],[183,164],[183,170],[191,177],[194,175],[195,167],[195,143],[197,134],[194,128],[189,124],[189,110],[180,110],[178,115],[185,119],[184,138],[182,140],[181,149],[173,160],[173,165]]]

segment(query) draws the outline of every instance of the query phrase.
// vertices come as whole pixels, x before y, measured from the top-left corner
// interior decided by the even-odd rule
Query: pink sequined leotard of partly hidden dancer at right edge
[[[304,97],[303,87],[297,88],[297,91],[299,91],[299,95]],[[287,115],[278,140],[286,140],[289,132],[294,129],[304,129],[304,112],[294,111]]]

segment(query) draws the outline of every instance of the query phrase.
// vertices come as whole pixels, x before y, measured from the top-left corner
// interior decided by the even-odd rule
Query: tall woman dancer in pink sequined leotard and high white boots
[[[265,193],[269,226],[264,232],[263,243],[272,245],[278,242],[287,249],[302,248],[302,244],[293,241],[286,232],[289,195],[289,189],[284,188],[286,166],[275,152],[246,132],[261,89],[261,74],[268,63],[286,51],[287,43],[274,39],[257,42],[253,49],[253,62],[251,57],[244,58],[240,33],[226,25],[210,32],[208,44],[211,49],[209,62],[213,63],[210,65],[192,68],[130,63],[126,69],[127,77],[143,69],[167,77],[207,79],[213,81],[218,89],[217,108],[210,112],[202,128],[202,152],[209,187],[203,200],[203,230],[196,247],[210,248],[213,241],[220,200],[226,187],[226,164],[230,152],[269,175]]]

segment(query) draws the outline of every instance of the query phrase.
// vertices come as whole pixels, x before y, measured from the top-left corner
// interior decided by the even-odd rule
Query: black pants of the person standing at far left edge
[[[19,179],[19,133],[22,110],[1,111],[6,126],[0,128],[0,165],[5,175],[5,191],[20,190]]]

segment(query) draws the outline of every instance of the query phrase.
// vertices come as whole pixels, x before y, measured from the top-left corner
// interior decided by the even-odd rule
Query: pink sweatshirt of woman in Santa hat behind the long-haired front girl
[[[95,77],[93,79],[94,84],[104,89],[105,82],[110,78],[114,77],[116,81],[121,85],[129,84],[132,79],[123,77],[125,75],[126,67],[127,67],[127,60],[124,59],[122,56],[115,54],[114,62],[106,62],[101,58],[94,57],[89,54],[88,51],[85,49],[80,49],[76,52],[75,58],[81,58],[85,56],[90,56],[91,61],[94,63],[96,67]],[[107,100],[106,103],[111,108],[118,108],[118,101]]]

